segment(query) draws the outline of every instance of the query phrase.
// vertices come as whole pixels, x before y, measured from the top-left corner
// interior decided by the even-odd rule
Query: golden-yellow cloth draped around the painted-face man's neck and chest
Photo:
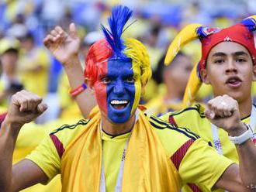
[[[70,142],[65,147],[65,153],[61,159],[57,156],[52,159],[54,160],[52,169],[46,170],[45,165],[43,166],[38,162],[39,157],[37,157],[39,159],[36,159],[36,156],[32,155],[28,158],[37,163],[50,179],[57,172],[61,172],[64,191],[99,191],[102,160],[100,155],[102,151],[99,131],[100,119],[101,115],[98,112],[89,122],[85,122],[87,126],[84,129],[75,129],[77,134],[73,135],[73,138],[71,138],[72,135],[66,138],[65,141],[70,140]],[[61,135],[58,136],[61,139]],[[48,146],[48,149],[49,146],[51,149],[54,148],[54,144],[50,144],[49,137],[44,144]],[[155,148],[155,146],[159,147]],[[138,148],[141,153],[137,153]],[[104,149],[106,148],[104,147]],[[178,191],[180,188],[175,166],[173,166],[164,153],[164,149],[159,145],[157,137],[150,129],[150,124],[142,112],[140,112],[139,121],[133,128],[126,156],[123,191],[135,191],[138,189],[145,191],[150,189]],[[164,169],[160,170],[160,167],[164,167]],[[149,174],[150,172],[151,174]],[[108,176],[108,173],[106,175]],[[74,180],[77,182],[74,182]],[[154,183],[151,182],[152,180],[159,180],[159,182]],[[109,186],[109,183],[106,183],[106,187],[108,191],[111,191],[109,189],[112,187]]]

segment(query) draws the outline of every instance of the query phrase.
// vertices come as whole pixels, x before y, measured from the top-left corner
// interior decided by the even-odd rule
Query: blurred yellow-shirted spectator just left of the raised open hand
[[[21,54],[18,72],[26,90],[44,97],[48,92],[49,56],[41,47],[34,43],[31,33],[20,38]]]

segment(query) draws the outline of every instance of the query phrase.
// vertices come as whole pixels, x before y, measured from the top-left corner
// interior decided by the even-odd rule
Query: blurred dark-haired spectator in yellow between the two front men
[[[146,105],[147,113],[157,116],[182,109],[183,94],[192,70],[192,58],[189,55],[178,53],[168,66],[164,66],[164,57],[165,54],[158,63],[158,76],[155,75],[158,83],[164,83],[164,90]]]

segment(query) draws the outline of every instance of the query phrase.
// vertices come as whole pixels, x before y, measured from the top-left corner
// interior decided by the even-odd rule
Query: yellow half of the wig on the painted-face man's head
[[[143,43],[133,38],[125,39],[124,45],[126,46],[124,53],[132,59],[134,73],[141,74],[141,83],[146,85],[152,75],[146,47]]]

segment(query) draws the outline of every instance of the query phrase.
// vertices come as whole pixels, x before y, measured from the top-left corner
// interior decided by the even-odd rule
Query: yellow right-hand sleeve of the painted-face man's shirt
[[[197,139],[185,153],[178,172],[183,184],[196,183],[211,190],[232,163],[234,162],[220,156],[202,139]]]

